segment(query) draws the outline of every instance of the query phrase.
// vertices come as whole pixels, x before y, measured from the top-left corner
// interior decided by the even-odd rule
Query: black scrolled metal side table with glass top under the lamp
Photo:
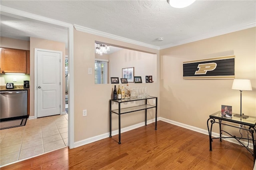
[[[218,122],[216,120],[218,120]],[[210,128],[209,128],[209,121],[211,123]],[[222,121],[224,121],[224,123],[222,123]],[[236,123],[238,125],[234,126],[234,125],[227,124],[226,122]],[[219,124],[220,137],[217,137],[217,138],[219,138],[220,141],[221,141],[222,138],[234,138],[234,139],[236,139],[242,146],[244,146],[252,154],[252,156],[254,157],[254,163],[255,163],[255,159],[256,159],[256,139],[254,139],[254,134],[256,134],[256,117],[249,116],[249,118],[247,118],[247,119],[241,119],[240,117],[234,117],[233,116],[231,118],[228,118],[228,117],[223,117],[221,115],[221,111],[218,111],[218,112],[210,115],[210,118],[207,121],[207,127],[208,127],[208,132],[209,132],[209,139],[210,139],[210,151],[212,151],[212,140],[217,139],[217,138],[212,138],[212,125],[214,123]],[[234,135],[230,134],[229,132],[226,132],[226,131],[222,130],[221,125],[226,125],[226,126],[246,130],[246,131],[250,132],[252,137],[251,138],[243,138],[243,137],[234,136]],[[246,128],[244,126],[240,127],[239,125],[245,125],[245,126],[248,126],[248,128]],[[230,136],[223,137],[223,136],[221,136],[222,132],[225,132]],[[246,139],[246,140],[252,141],[253,150],[248,148],[248,146],[245,146],[240,141],[240,139]]]

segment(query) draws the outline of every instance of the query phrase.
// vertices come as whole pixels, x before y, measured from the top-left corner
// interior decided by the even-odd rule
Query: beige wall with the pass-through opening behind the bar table
[[[156,53],[159,50],[124,43],[74,30],[74,141],[78,142],[93,136],[109,132],[109,99],[114,85],[94,84],[94,71],[88,75],[88,68],[94,68],[94,42],[106,42],[122,47]],[[159,57],[157,61],[159,68]],[[93,69],[94,70],[94,69]],[[159,70],[158,70],[159,74]],[[158,76],[159,77],[159,76]],[[159,81],[157,81],[159,82]],[[131,84],[130,84],[131,85]],[[132,84],[148,86],[150,95],[159,97],[159,83]],[[159,104],[159,102],[158,102]],[[87,109],[87,117],[82,117],[82,110]],[[153,119],[153,109],[148,119]],[[113,115],[112,130],[118,128],[118,117]],[[122,127],[144,121],[144,112],[122,115]]]

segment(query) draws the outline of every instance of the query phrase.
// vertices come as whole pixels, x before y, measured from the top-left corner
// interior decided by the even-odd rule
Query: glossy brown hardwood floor
[[[240,145],[158,121],[74,149],[68,147],[1,170],[252,170],[253,156]]]

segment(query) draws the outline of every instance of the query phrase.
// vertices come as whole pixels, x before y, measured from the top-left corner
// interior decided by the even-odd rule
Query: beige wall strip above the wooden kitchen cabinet
[[[0,37],[0,47],[30,50],[30,42],[13,38]]]

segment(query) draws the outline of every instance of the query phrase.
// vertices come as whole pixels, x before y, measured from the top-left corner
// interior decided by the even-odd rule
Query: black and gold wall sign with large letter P
[[[235,56],[183,62],[183,79],[234,79]]]

